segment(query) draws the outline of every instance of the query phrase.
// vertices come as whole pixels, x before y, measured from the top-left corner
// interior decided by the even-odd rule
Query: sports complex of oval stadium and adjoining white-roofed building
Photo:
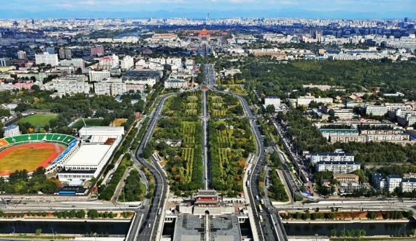
[[[0,139],[0,176],[43,166],[62,182],[97,178],[119,145],[124,127],[82,127],[80,138],[66,134],[22,134]]]

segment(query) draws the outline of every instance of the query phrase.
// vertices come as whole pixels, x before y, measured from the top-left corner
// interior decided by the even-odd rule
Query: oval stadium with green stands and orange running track
[[[29,176],[43,166],[46,174],[59,171],[79,146],[75,137],[66,134],[22,134],[0,139],[0,176],[8,179],[15,170],[26,169]]]

